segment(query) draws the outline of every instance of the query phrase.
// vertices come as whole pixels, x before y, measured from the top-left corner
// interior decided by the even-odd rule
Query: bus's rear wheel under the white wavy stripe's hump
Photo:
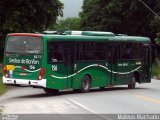
[[[80,92],[82,93],[86,93],[90,91],[90,85],[91,83],[91,79],[88,75],[85,75],[81,81],[81,88],[80,88]]]

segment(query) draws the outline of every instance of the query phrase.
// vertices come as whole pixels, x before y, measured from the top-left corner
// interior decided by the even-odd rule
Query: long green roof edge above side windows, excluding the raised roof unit
[[[150,43],[148,37],[137,37],[137,36],[86,36],[86,35],[44,35],[50,40],[55,41],[110,41],[110,42],[142,42]]]

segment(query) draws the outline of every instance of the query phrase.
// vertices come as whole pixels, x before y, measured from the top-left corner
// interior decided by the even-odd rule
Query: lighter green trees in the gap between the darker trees
[[[80,29],[80,18],[72,17],[57,21],[53,26],[53,30],[66,31],[66,30],[79,30]]]

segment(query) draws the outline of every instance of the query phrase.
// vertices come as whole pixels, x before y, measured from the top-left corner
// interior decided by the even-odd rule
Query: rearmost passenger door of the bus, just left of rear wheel
[[[73,74],[73,52],[74,52],[74,42],[64,42],[64,66],[67,72],[67,87],[71,88],[72,84],[72,74]]]

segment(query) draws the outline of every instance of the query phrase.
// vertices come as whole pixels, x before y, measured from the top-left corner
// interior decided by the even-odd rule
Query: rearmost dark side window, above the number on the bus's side
[[[48,42],[48,63],[63,62],[62,42]]]

